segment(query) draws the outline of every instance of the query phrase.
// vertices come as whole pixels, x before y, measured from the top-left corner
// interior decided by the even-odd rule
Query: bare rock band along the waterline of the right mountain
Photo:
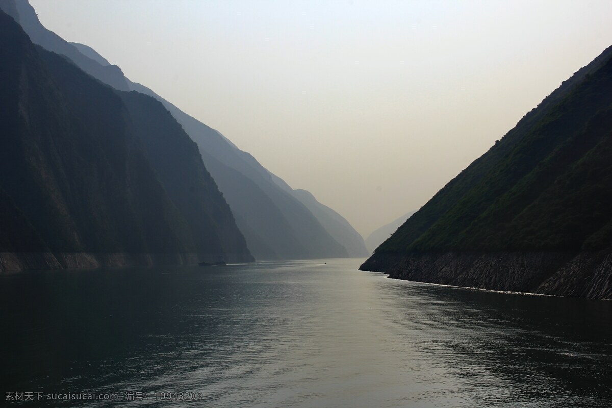
[[[359,268],[390,278],[494,291],[612,299],[612,253],[375,253]]]

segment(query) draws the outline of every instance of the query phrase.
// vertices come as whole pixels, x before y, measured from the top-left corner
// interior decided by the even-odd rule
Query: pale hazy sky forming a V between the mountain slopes
[[[612,45],[612,1],[30,0],[367,236]]]

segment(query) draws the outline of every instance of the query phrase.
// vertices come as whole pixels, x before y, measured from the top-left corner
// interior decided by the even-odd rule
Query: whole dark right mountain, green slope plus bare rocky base
[[[362,269],[612,297],[612,47],[548,95]]]

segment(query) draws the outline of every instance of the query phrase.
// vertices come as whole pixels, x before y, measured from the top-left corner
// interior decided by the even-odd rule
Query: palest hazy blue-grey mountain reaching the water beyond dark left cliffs
[[[313,215],[266,168],[217,130],[197,121],[147,87],[130,89],[160,100],[200,147],[212,177],[257,259],[342,258],[348,250],[326,231],[326,219]],[[286,185],[283,181],[282,184]],[[352,227],[351,227],[352,229]]]

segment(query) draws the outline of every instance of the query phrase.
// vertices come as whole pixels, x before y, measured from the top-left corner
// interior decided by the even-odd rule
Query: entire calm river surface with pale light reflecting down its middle
[[[360,261],[0,275],[0,405],[612,406],[612,302],[395,281]]]

